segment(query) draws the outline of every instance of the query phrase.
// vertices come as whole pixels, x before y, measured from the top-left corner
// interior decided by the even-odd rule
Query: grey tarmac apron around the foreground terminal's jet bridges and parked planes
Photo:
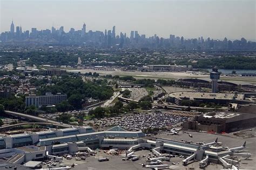
[[[192,134],[193,138],[189,137],[188,134]],[[256,169],[255,166],[255,154],[256,154],[256,149],[255,149],[255,139],[256,138],[247,138],[247,139],[242,139],[242,138],[234,138],[234,137],[229,137],[227,135],[217,135],[217,134],[208,134],[208,133],[199,133],[199,132],[188,132],[188,133],[180,133],[178,135],[167,135],[167,134],[159,134],[156,135],[158,138],[167,138],[167,139],[172,139],[172,140],[191,140],[193,142],[198,142],[198,141],[204,141],[204,142],[212,142],[218,137],[218,141],[223,143],[223,146],[227,146],[229,148],[231,147],[237,147],[241,146],[244,141],[247,143],[247,147],[244,149],[252,154],[252,157],[248,160],[243,160],[241,159],[240,162],[240,169]],[[77,164],[75,168],[73,169],[106,169],[106,170],[116,170],[116,169],[124,169],[124,170],[137,170],[137,169],[146,169],[142,167],[142,164],[147,164],[146,162],[146,157],[151,153],[150,151],[147,150],[142,150],[142,151],[136,151],[134,154],[135,155],[140,155],[140,159],[137,161],[131,161],[131,160],[122,160],[121,155],[109,155],[101,151],[97,151],[97,154],[95,157],[91,156],[86,158],[85,161],[75,161],[75,158],[72,160],[66,160],[64,159],[64,164],[65,165],[72,165],[73,162]],[[142,155],[146,155],[146,157],[142,157]],[[109,161],[105,162],[98,162],[98,158],[109,158]],[[191,164],[188,164],[187,166],[182,165],[182,160],[184,158],[171,158],[171,161],[163,161],[163,164],[168,164],[170,165],[169,169],[199,169],[199,162],[192,162]],[[175,165],[172,165],[172,162],[175,163]],[[206,169],[224,169],[222,165],[219,164],[210,164],[206,167]]]

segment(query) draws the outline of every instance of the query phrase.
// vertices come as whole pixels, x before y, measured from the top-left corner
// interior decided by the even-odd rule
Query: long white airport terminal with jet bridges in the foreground
[[[0,137],[0,158],[14,164],[24,164],[31,160],[44,158],[62,159],[63,154],[75,154],[80,151],[95,153],[96,148],[127,149],[128,153],[136,149],[152,149],[157,157],[161,153],[185,155],[183,164],[190,160],[200,161],[200,166],[207,162],[221,162],[225,167],[232,167],[227,157],[236,155],[235,151],[245,148],[245,144],[236,148],[224,148],[217,140],[209,144],[190,144],[170,139],[148,140],[142,131],[126,131],[115,126],[106,131],[95,132],[91,127],[72,127],[43,132],[25,132],[17,135]],[[239,153],[242,157],[251,157],[249,153]],[[234,163],[234,161],[233,161]]]

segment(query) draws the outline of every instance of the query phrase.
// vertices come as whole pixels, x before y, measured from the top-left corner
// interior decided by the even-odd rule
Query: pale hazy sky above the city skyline
[[[256,39],[256,0],[0,0],[0,31],[15,26],[38,30],[64,26],[86,31],[112,29],[116,33],[185,38]]]

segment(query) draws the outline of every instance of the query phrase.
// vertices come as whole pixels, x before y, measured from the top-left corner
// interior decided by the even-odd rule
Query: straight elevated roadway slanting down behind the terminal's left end
[[[13,116],[19,117],[19,118],[25,118],[25,119],[34,120],[37,122],[42,122],[42,123],[50,123],[50,124],[55,124],[55,125],[71,127],[71,125],[68,125],[68,124],[59,123],[58,121],[49,120],[49,119],[45,119],[45,118],[41,118],[41,117],[36,117],[33,115],[29,115],[29,114],[12,112],[12,111],[4,111],[4,112],[5,112],[5,114],[13,115]]]

